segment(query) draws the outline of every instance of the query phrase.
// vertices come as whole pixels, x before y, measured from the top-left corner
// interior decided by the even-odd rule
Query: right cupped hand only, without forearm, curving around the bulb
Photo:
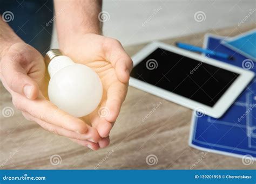
[[[73,35],[62,40],[60,49],[73,61],[89,66],[99,75],[103,84],[103,98],[99,107],[83,119],[107,138],[125,100],[132,60],[119,41],[97,34]],[[100,147],[109,144],[99,141]]]

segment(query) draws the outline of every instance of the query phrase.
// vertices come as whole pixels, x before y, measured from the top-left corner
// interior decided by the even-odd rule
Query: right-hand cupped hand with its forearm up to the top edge
[[[103,83],[99,107],[84,117],[98,130],[100,147],[109,144],[109,133],[127,93],[132,60],[119,43],[102,34],[101,0],[55,0],[58,43],[65,55],[98,73]]]

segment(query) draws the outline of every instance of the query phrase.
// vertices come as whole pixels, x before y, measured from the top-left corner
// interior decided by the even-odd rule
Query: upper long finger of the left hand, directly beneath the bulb
[[[80,134],[87,134],[94,142],[98,142],[100,137],[95,128],[87,125],[81,119],[75,118],[70,114],[60,110],[51,102],[37,98],[29,100],[23,96],[15,96],[12,102],[19,110],[28,112],[31,116],[41,119],[44,122],[59,126],[66,130],[75,131]]]

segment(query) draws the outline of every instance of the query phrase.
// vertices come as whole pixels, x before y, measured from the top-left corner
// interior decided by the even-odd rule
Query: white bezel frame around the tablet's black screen
[[[137,54],[132,56],[133,66],[136,66],[140,61],[145,59],[149,54],[151,54],[157,48],[163,48],[163,49],[166,49],[167,51],[184,55],[188,58],[199,60],[201,62],[205,62],[210,65],[217,66],[219,68],[223,68],[226,70],[230,70],[231,72],[240,74],[239,77],[231,84],[231,86],[225,91],[223,96],[220,97],[218,102],[215,103],[213,107],[209,107],[203,103],[190,100],[189,98],[174,94],[168,90],[159,88],[157,86],[153,86],[152,84],[130,77],[129,84],[132,87],[136,87],[138,89],[146,91],[147,93],[160,96],[166,100],[175,102],[177,104],[184,105],[187,108],[200,110],[204,114],[212,116],[214,118],[219,118],[224,114],[224,112],[230,107],[230,105],[235,101],[235,99],[239,96],[242,90],[244,90],[247,84],[254,77],[254,73],[251,72],[250,70],[244,70],[242,68],[232,66],[227,63],[220,62],[218,60],[210,59],[205,56],[192,53],[189,51],[185,51],[184,49],[180,49],[180,48],[167,45],[164,43],[156,42],[156,41],[145,46]],[[158,65],[160,65],[160,63],[158,63]]]

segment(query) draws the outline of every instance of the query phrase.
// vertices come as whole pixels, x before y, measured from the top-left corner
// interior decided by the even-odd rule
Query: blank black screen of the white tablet
[[[239,74],[157,48],[131,76],[213,107]]]

